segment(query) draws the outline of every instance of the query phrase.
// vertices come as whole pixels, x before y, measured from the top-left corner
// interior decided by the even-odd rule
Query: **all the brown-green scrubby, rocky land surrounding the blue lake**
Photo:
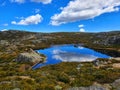
[[[62,62],[31,70],[44,55],[32,49],[81,44],[115,58],[94,62]],[[118,58],[116,58],[118,57]],[[0,32],[0,90],[119,90],[120,31],[100,33]],[[15,59],[16,58],[16,59]],[[30,63],[30,62],[34,63]]]

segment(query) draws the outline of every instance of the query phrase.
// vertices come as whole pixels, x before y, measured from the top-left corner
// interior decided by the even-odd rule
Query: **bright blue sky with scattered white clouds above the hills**
[[[0,31],[120,31],[120,0],[0,0]]]

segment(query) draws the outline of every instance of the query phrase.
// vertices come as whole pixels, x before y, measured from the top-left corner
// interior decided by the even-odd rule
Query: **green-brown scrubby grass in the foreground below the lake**
[[[22,90],[55,90],[58,86],[66,89],[69,87],[90,86],[94,82],[101,84],[112,83],[120,77],[120,69],[109,69],[109,64],[108,67],[96,68],[93,63],[82,63],[80,70],[77,70],[79,64],[81,63],[62,62],[37,70],[20,70],[23,64],[15,62],[1,64],[0,90],[4,90],[4,86],[6,86],[7,90],[14,88]],[[9,83],[2,83],[4,81]]]

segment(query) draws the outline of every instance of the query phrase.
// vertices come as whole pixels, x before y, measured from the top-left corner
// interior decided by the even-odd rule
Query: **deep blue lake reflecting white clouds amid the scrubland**
[[[45,63],[37,64],[33,69],[42,66],[57,64],[60,62],[86,62],[97,58],[110,58],[105,54],[96,52],[92,49],[74,45],[56,45],[46,49],[37,50],[37,52],[46,55]]]

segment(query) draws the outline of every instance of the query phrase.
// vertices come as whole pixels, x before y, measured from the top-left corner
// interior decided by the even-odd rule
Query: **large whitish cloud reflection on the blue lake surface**
[[[53,59],[61,60],[64,62],[85,62],[85,61],[93,61],[97,59],[97,57],[94,55],[67,52],[67,51],[62,51],[60,49],[53,50],[52,54],[53,54],[52,56]]]

